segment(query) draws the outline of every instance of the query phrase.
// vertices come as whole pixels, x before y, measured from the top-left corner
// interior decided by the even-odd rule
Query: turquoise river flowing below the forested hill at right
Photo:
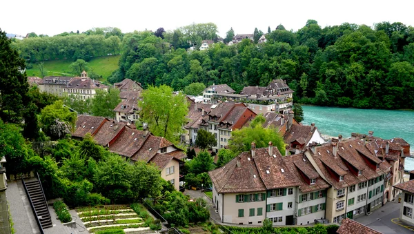
[[[374,131],[374,136],[383,139],[401,137],[411,144],[414,155],[414,111],[411,110],[363,110],[355,108],[337,108],[322,106],[302,106],[304,121],[302,124],[315,126],[323,135],[344,138],[351,133]],[[406,158],[406,170],[414,170],[414,158]]]

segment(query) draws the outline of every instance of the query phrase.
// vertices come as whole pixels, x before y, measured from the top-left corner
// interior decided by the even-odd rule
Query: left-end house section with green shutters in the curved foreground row
[[[324,219],[330,186],[304,155],[282,157],[277,147],[241,153],[208,173],[221,222],[274,226],[311,224]]]

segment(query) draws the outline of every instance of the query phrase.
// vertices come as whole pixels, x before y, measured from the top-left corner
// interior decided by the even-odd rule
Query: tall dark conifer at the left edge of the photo
[[[31,100],[26,72],[22,72],[25,61],[10,43],[6,32],[0,30],[0,118],[20,122]]]

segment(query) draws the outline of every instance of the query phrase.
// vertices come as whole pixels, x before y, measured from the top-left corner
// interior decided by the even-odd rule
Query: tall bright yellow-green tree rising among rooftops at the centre
[[[164,85],[149,86],[142,92],[139,108],[142,121],[148,124],[152,134],[178,142],[188,113],[186,96],[182,92],[174,94],[172,88]]]

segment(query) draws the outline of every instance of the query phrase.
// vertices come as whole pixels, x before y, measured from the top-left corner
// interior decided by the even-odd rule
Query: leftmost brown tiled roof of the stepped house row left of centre
[[[75,125],[75,132],[72,133],[72,137],[84,137],[86,133],[94,135],[99,126],[103,124],[103,121],[109,121],[104,117],[79,115]]]

